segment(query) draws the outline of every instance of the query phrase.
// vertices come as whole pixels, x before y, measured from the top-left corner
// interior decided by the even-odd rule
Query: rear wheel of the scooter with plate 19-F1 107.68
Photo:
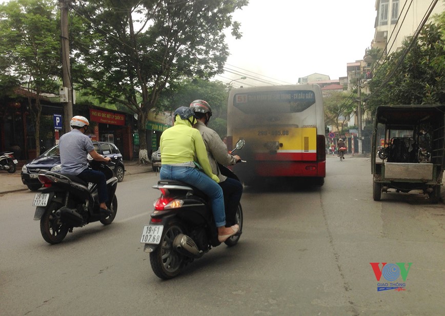
[[[171,222],[164,226],[158,247],[150,253],[151,269],[158,278],[172,279],[186,265],[184,256],[173,248],[173,240],[183,233],[185,229],[179,222]]]

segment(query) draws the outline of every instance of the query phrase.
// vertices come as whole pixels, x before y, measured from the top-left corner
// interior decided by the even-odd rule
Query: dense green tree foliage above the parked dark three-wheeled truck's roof
[[[444,28],[445,12],[436,17],[436,24],[424,26],[408,54],[411,38],[377,67],[366,98],[368,111],[385,104],[445,104]]]

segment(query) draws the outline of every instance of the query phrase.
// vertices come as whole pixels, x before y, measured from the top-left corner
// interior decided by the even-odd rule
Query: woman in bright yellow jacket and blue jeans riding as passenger
[[[203,191],[211,199],[213,218],[218,229],[218,240],[224,242],[239,229],[238,225],[225,227],[226,213],[224,195],[218,185],[219,178],[212,173],[206,145],[196,123],[194,112],[188,107],[179,107],[173,113],[174,126],[160,136],[161,180],[177,180]],[[196,163],[204,172],[196,168]]]

